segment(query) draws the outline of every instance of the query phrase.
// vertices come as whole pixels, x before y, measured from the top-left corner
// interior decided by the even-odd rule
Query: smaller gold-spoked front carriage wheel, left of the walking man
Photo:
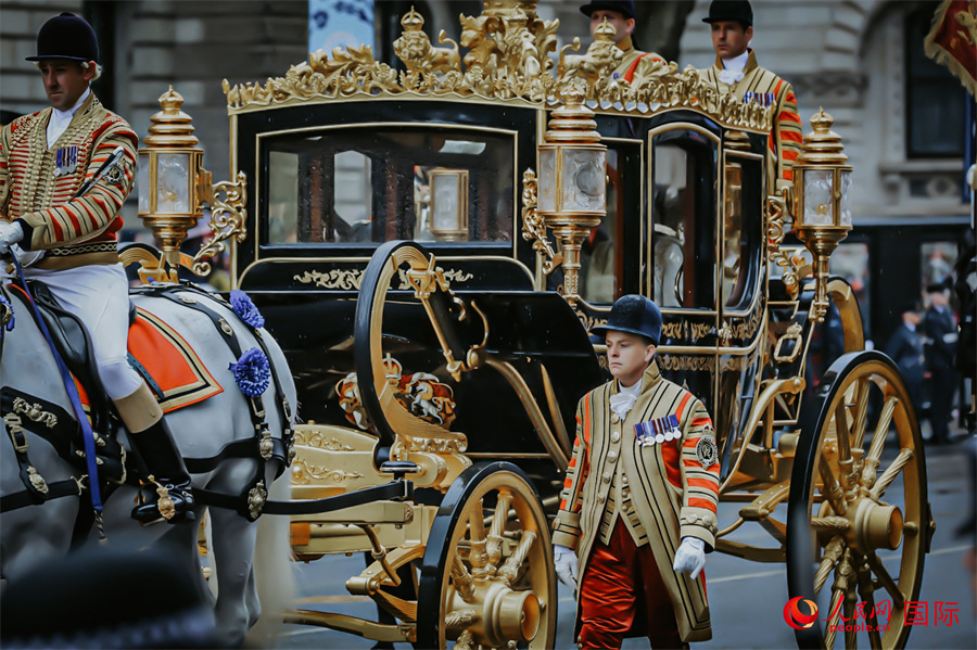
[[[557,589],[536,490],[513,464],[466,470],[428,538],[417,647],[553,648]]]

